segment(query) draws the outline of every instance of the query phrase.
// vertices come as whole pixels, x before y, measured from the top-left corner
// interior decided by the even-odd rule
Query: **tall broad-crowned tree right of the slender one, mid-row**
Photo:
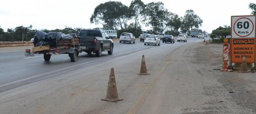
[[[162,2],[148,3],[142,12],[144,14],[143,21],[146,23],[146,26],[150,25],[152,27],[153,34],[163,32],[163,26],[167,20],[168,11],[164,8]]]

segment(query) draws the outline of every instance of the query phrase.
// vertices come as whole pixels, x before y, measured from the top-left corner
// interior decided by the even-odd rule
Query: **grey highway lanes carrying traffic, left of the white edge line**
[[[140,41],[136,41],[135,44],[119,43],[118,41],[114,42],[114,51],[112,55],[103,52],[102,57],[95,57],[95,54],[82,52],[79,54],[76,62],[70,62],[70,58],[67,54],[53,55],[50,61],[47,62],[44,61],[42,54],[36,54],[35,57],[25,57],[25,49],[18,52],[1,53],[0,91],[5,91],[24,84],[57,76],[74,69],[101,63],[101,61],[111,60],[112,58],[155,47],[151,45],[144,46],[144,43]],[[161,44],[166,45],[166,43],[162,42]],[[184,42],[177,42],[176,40],[175,44],[168,45],[172,46],[172,48],[176,48],[184,45]]]

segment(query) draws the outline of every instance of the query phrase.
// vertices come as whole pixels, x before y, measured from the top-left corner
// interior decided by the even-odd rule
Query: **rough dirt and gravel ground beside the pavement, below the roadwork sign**
[[[256,113],[256,74],[239,72],[220,72],[222,67],[222,44],[209,44],[197,48],[195,64],[205,64],[203,74],[216,78],[221,86],[205,87],[208,95],[229,95],[225,100],[240,106],[239,110],[251,109]],[[219,93],[219,94],[217,94]],[[225,100],[221,103],[226,104]],[[225,106],[225,105],[224,105]],[[244,114],[248,114],[245,113]]]

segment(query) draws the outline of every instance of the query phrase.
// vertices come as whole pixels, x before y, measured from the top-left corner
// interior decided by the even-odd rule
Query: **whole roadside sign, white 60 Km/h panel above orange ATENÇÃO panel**
[[[256,16],[231,16],[230,63],[255,63]]]

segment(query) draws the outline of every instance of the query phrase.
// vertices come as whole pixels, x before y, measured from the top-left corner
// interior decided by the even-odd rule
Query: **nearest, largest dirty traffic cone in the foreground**
[[[106,98],[101,100],[111,101],[111,102],[124,100],[124,99],[118,98],[114,68],[111,68],[111,71],[110,71]]]

